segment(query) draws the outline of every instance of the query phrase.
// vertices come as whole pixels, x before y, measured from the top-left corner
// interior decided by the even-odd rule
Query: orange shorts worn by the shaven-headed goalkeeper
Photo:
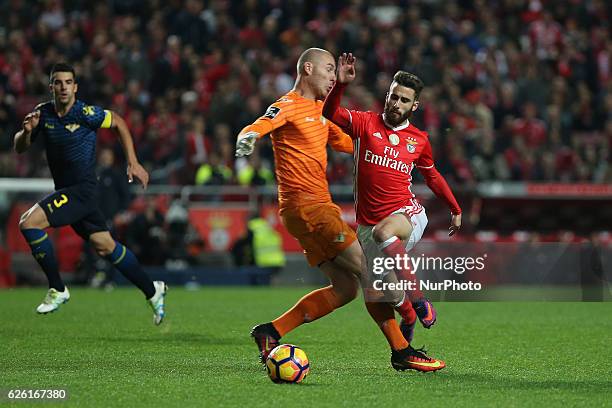
[[[300,242],[310,266],[333,260],[357,239],[334,203],[283,208],[280,216],[287,231]]]

